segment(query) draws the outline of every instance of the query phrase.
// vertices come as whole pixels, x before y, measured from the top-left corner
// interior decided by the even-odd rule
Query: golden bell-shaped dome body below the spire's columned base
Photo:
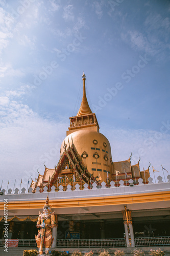
[[[111,181],[112,156],[108,139],[92,130],[79,130],[66,136],[61,144],[60,156],[69,144],[74,143],[82,161],[93,176],[101,176],[107,181],[107,172]]]

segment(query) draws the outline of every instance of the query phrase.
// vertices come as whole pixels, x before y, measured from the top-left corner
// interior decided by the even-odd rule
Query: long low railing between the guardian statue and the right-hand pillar
[[[56,247],[126,247],[126,240],[119,239],[58,239]]]

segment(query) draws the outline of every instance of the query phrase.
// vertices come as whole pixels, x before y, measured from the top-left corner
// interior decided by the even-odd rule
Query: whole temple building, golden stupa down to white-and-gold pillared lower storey
[[[36,221],[48,195],[55,211],[53,247],[68,240],[118,239],[119,246],[134,247],[144,238],[168,237],[170,176],[153,183],[139,162],[114,162],[108,139],[99,132],[85,89],[75,117],[60,148],[59,162],[26,188],[2,190],[0,238],[4,237],[4,200],[8,201],[8,238],[35,239]]]

